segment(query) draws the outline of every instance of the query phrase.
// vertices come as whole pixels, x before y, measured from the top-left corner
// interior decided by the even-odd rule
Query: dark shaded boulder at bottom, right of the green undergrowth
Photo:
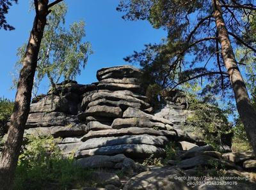
[[[119,177],[115,173],[109,172],[93,172],[93,182],[97,183],[98,186],[113,185],[116,187],[122,186]]]

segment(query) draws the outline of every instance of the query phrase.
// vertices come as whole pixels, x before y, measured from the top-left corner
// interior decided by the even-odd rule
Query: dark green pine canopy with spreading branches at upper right
[[[163,87],[175,88],[196,78],[202,82],[202,77],[207,77],[203,95],[221,94],[221,89],[229,89],[230,82],[221,59],[218,32],[212,17],[212,2],[121,0],[117,10],[124,11],[124,19],[148,20],[156,29],[168,31],[166,40],[160,44],[145,45],[144,50],[134,52],[125,61],[139,62],[147,78]],[[220,3],[232,45],[246,47],[255,55],[255,38],[250,35],[253,24],[248,22],[255,17],[255,2],[220,0]]]

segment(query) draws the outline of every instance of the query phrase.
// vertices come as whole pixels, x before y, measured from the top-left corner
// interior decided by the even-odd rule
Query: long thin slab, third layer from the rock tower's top
[[[141,88],[141,85],[138,84],[118,84],[118,83],[100,83],[97,85],[97,89],[106,89],[110,91],[123,91],[128,90],[132,92],[138,92],[142,93],[143,89]]]

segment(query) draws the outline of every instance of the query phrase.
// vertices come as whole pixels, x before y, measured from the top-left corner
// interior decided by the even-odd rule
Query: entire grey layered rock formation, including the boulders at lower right
[[[253,154],[221,154],[202,139],[182,131],[180,125],[189,114],[184,110],[185,103],[177,105],[170,101],[168,106],[154,112],[141,85],[141,74],[131,66],[116,66],[97,71],[99,82],[90,85],[74,81],[58,84],[58,92],[50,91],[33,99],[26,135],[54,136],[63,153],[74,154],[77,164],[84,168],[120,169],[129,173],[133,177],[124,189],[180,186],[191,189],[185,183],[189,180],[174,177],[195,176],[198,167],[216,170],[221,166],[230,175],[249,175],[250,180],[256,179]],[[154,170],[132,160],[140,161],[152,155],[164,157],[164,148],[170,142],[176,148],[166,168]],[[207,175],[211,170],[201,172]],[[119,182],[111,185],[121,187]],[[248,184],[248,188],[252,186]],[[202,185],[198,189],[207,187]]]

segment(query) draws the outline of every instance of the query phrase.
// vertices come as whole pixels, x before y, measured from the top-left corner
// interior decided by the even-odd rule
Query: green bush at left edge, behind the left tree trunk
[[[6,132],[6,122],[10,119],[13,102],[7,98],[0,98],[0,136]]]

